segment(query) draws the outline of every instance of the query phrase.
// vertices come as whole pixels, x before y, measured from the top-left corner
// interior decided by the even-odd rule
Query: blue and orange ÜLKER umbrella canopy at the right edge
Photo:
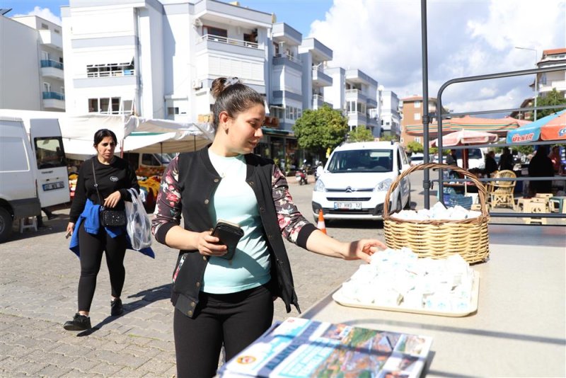
[[[547,115],[507,133],[507,143],[566,139],[566,110]]]

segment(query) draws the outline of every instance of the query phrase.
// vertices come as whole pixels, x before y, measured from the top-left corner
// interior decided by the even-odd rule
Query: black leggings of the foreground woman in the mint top
[[[201,292],[194,318],[175,309],[177,377],[214,377],[224,343],[226,361],[267,331],[273,299],[266,285],[233,294]]]

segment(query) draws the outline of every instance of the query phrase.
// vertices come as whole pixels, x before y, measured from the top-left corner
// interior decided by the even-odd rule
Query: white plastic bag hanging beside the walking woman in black
[[[132,195],[132,202],[125,201],[126,229],[132,248],[139,251],[151,246],[151,222],[137,191],[130,188],[128,192]]]

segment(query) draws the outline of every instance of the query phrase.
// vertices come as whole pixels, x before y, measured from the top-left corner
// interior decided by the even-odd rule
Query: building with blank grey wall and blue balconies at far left
[[[0,108],[64,111],[61,26],[0,16],[0,41]]]

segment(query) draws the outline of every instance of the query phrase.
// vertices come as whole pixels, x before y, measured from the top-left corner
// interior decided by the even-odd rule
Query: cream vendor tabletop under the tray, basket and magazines
[[[302,317],[432,336],[429,377],[566,376],[566,227],[490,225],[478,311],[461,318],[343,307]]]

